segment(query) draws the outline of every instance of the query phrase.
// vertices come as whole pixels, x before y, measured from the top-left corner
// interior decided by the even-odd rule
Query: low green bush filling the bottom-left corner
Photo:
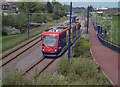
[[[32,80],[25,78],[18,70],[4,71],[3,85],[30,85]]]

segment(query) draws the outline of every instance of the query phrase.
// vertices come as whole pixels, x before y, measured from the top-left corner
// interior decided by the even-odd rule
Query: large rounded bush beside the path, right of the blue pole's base
[[[73,64],[70,66],[71,68],[69,69],[68,77],[70,76],[69,74],[72,73],[74,75],[74,79],[76,80],[79,80],[79,78],[86,78],[87,80],[88,78],[94,77],[95,73],[97,73],[96,70],[98,66],[90,59],[78,58],[72,61]],[[73,79],[71,78],[71,80]]]

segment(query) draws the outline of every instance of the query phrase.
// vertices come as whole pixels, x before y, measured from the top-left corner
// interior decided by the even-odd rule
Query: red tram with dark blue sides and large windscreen
[[[80,22],[71,25],[71,44],[80,36]],[[53,27],[42,33],[43,56],[58,57],[68,47],[69,24]]]

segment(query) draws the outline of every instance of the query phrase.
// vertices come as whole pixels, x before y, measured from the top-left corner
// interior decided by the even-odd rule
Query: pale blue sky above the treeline
[[[25,1],[25,0],[7,0],[7,1]],[[26,1],[48,1],[48,0],[26,0]],[[73,7],[87,7],[88,5],[92,5],[95,8],[100,8],[100,7],[118,7],[118,2],[120,0],[56,0],[56,1],[67,5],[69,5],[70,2],[72,1]]]

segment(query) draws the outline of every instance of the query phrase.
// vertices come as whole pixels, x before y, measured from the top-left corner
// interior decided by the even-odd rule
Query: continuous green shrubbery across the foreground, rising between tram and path
[[[81,49],[80,49],[81,48]],[[100,70],[100,66],[92,60],[88,38],[82,38],[73,47],[70,61],[62,58],[54,74],[43,73],[38,79],[22,77],[12,71],[4,74],[5,85],[109,85],[109,80]],[[74,52],[74,53],[73,53]]]

